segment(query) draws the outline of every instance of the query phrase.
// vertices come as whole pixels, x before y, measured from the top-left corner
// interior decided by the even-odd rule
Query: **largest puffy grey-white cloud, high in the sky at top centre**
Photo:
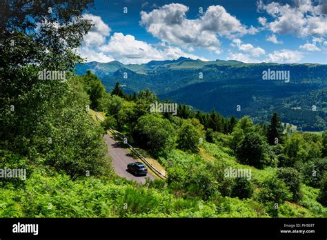
[[[198,19],[187,19],[188,7],[171,3],[151,12],[141,12],[141,25],[153,36],[186,48],[200,47],[221,52],[217,36],[232,38],[257,30],[246,26],[222,6],[210,6]]]

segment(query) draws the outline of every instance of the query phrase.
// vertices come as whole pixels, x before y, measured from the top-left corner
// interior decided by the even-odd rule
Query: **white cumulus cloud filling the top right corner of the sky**
[[[310,0],[294,0],[291,6],[276,2],[264,4],[260,0],[258,9],[273,17],[274,21],[266,22],[265,25],[274,33],[294,34],[297,37],[327,34],[326,1],[314,6]]]

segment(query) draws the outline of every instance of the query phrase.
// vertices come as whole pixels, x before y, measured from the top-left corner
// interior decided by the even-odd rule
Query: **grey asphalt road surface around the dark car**
[[[115,168],[116,173],[121,176],[125,177],[126,179],[132,179],[139,183],[145,183],[146,177],[150,177],[150,179],[155,180],[150,172],[145,176],[135,176],[130,172],[127,172],[127,164],[133,163],[135,161],[139,161],[139,159],[134,159],[129,152],[122,148],[120,143],[112,139],[108,134],[104,135],[104,139],[108,145],[108,155],[112,157],[112,164]]]

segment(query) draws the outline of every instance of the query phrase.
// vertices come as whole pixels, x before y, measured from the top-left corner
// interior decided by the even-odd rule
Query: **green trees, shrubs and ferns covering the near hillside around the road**
[[[326,217],[326,131],[290,132],[275,112],[268,124],[185,105],[154,113],[161,101],[146,88],[107,92],[92,72],[75,74],[90,2],[66,4],[0,5],[0,217]],[[39,79],[44,70],[66,79]],[[164,166],[166,181],[118,177],[108,128]]]

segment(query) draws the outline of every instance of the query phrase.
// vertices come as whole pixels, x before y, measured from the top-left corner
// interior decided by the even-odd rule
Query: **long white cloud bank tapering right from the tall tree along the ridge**
[[[83,14],[83,17],[90,19],[93,24],[78,50],[81,57],[86,58],[87,61],[108,62],[117,60],[122,63],[147,63],[151,60],[178,59],[179,57],[207,61],[203,57],[184,52],[176,46],[169,46],[165,41],[154,46],[121,32],[115,32],[110,39],[107,39],[111,29],[102,21],[101,17],[92,14]],[[192,49],[188,48],[188,50]]]

